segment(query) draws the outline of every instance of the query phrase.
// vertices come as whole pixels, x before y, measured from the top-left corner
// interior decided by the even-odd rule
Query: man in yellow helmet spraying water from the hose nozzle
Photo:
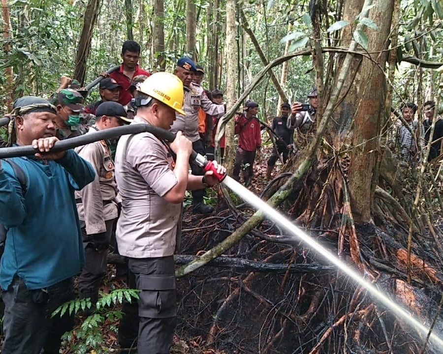
[[[153,74],[137,86],[137,114],[131,124],[168,130],[175,113],[184,114],[183,96],[179,78],[164,72]],[[218,182],[212,172],[203,177],[189,175],[191,152],[192,142],[180,131],[170,145],[151,133],[122,136],[117,145],[115,175],[122,212],[116,236],[119,252],[128,257],[140,290],[138,354],[169,353],[177,312],[173,255],[185,191]],[[217,171],[224,173],[225,169],[218,166]],[[120,345],[131,343],[121,341]]]

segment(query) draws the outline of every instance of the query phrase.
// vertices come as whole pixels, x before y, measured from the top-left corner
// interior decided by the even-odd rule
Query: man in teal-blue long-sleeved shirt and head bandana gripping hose
[[[93,181],[95,172],[73,150],[51,153],[58,141],[56,113],[33,96],[19,98],[11,113],[9,144],[32,144],[40,152],[0,165],[0,223],[7,229],[0,266],[2,354],[59,353],[62,334],[73,327],[72,317],[51,314],[74,298],[72,276],[84,264],[74,190]]]

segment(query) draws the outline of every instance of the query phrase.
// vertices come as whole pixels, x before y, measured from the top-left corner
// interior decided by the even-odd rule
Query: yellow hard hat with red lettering
[[[173,108],[178,113],[186,115],[182,110],[185,98],[183,83],[177,76],[166,72],[157,72],[137,84],[136,89]]]

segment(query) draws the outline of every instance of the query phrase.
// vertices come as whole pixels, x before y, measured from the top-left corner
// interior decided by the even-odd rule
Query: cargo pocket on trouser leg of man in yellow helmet
[[[177,315],[175,276],[139,274],[138,315],[168,318]]]

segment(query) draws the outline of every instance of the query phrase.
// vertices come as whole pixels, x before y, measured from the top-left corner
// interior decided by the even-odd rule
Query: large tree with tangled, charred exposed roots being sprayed
[[[425,182],[433,181],[435,186],[437,182],[432,166],[426,162],[411,177],[412,170],[405,170],[387,145],[392,122],[391,83],[399,58],[400,1],[344,1],[343,18],[328,31],[332,36],[341,29],[336,38],[339,48],[322,48],[321,19],[326,7],[323,1],[311,4],[312,50],[270,62],[222,118],[218,138],[242,100],[268,70],[297,55],[312,54],[321,101],[312,141],[289,160],[283,173],[266,187],[263,197],[272,206],[286,210],[299,225],[312,230],[313,237],[410,309],[422,323],[438,328],[438,332],[443,325],[443,275],[439,271],[443,253],[441,233],[435,229],[435,220],[427,207],[432,198],[441,203],[441,197],[438,188],[434,188],[432,198],[423,188]],[[439,65],[420,58],[409,60],[418,63],[417,70]],[[437,100],[439,94],[440,91]],[[419,137],[416,142],[419,146]],[[426,149],[420,151],[420,160],[426,161]],[[413,193],[408,193],[405,181],[410,182]],[[229,200],[228,191],[224,192]],[[258,301],[262,314],[266,314],[261,319],[264,324],[258,337],[260,353],[272,353],[275,348],[284,353],[310,354],[441,351],[428,343],[422,333],[399,320],[395,312],[374,301],[364,288],[357,287],[340,272],[324,271],[318,264],[324,261],[316,259],[315,250],[304,248],[263,221],[262,212],[246,218],[233,207],[231,210],[236,213],[237,222],[244,222],[210,251],[178,269],[177,275],[195,271],[229,249],[232,251],[237,242],[239,253],[246,243],[252,249],[267,250],[268,257],[262,262],[289,262],[289,267],[283,277],[265,277],[267,286],[255,272],[231,278],[234,289],[217,306],[207,337],[210,343],[235,336],[224,332],[231,333],[232,322],[241,318],[238,312],[243,316],[247,312],[228,309],[238,306],[244,292],[255,303]],[[425,233],[425,226],[429,227],[429,234]],[[221,234],[225,236],[226,230]],[[252,239],[258,244],[252,245]],[[262,242],[266,246],[259,246]],[[296,247],[278,247],[276,243]],[[314,270],[294,274],[297,271],[292,273],[290,265],[297,263],[313,263]],[[245,301],[243,307],[248,306],[251,304]],[[234,328],[245,326],[237,323]]]

